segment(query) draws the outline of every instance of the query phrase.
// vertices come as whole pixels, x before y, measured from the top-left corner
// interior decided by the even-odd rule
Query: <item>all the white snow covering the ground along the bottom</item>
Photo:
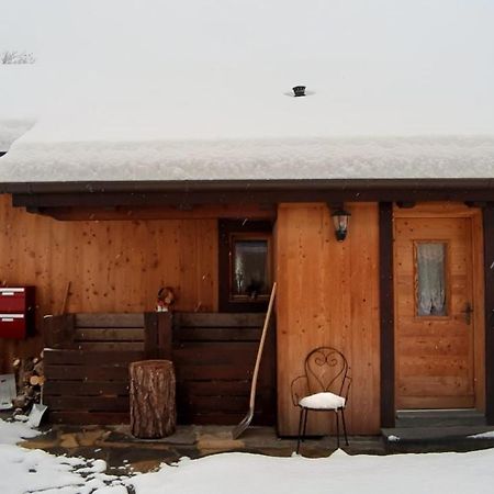
[[[0,493],[24,494],[487,494],[494,483],[494,449],[468,453],[265,457],[249,453],[181,459],[132,478],[105,475],[102,460],[56,457],[13,446],[26,426],[0,420]],[[8,444],[4,444],[8,442]],[[128,490],[127,490],[128,486]]]

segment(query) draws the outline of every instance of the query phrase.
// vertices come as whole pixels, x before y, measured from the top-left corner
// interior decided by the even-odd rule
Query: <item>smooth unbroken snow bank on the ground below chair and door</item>
[[[492,493],[494,450],[469,453],[273,458],[247,453],[182,460],[132,479],[137,494],[251,494],[379,492]]]

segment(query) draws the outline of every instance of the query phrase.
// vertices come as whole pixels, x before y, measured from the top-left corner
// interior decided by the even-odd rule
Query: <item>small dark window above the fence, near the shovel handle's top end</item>
[[[233,247],[233,294],[256,299],[268,293],[268,242],[234,239]]]

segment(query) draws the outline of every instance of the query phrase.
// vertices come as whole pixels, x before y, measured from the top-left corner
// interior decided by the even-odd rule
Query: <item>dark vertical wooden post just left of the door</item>
[[[381,427],[394,427],[393,205],[379,204]]]

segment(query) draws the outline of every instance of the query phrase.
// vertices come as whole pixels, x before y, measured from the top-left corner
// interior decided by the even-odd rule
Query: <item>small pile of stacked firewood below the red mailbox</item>
[[[14,414],[24,414],[33,403],[41,403],[42,400],[42,388],[45,382],[43,351],[40,357],[14,359],[13,368],[18,395],[12,400],[12,405]]]

